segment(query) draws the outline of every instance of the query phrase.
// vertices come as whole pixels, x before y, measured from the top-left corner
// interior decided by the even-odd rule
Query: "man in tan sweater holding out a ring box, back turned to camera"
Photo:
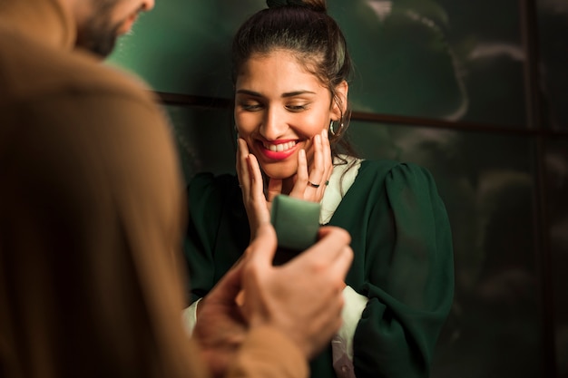
[[[340,325],[337,228],[272,267],[264,225],[183,330],[174,144],[149,91],[97,63],[152,6],[0,0],[0,375],[306,376]]]

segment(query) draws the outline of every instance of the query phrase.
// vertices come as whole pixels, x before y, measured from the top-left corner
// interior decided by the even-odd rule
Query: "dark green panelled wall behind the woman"
[[[264,2],[156,2],[109,63],[158,92],[230,99],[230,37]],[[568,2],[328,6],[356,66],[351,139],[432,170],[452,221],[455,305],[432,376],[568,377]],[[233,170],[230,109],[165,108],[186,179]]]

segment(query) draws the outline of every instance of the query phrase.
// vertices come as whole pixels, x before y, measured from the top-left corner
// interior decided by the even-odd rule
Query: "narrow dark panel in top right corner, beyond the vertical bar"
[[[538,0],[539,53],[544,112],[556,129],[568,129],[568,1]]]

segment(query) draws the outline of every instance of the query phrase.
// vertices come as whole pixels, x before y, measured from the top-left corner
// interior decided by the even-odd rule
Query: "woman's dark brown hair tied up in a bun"
[[[235,34],[232,43],[233,82],[240,68],[253,54],[269,54],[274,50],[294,53],[309,73],[316,75],[331,92],[332,101],[343,109],[336,92],[339,83],[351,75],[351,58],[347,42],[336,21],[327,13],[325,0],[268,0],[269,8],[250,16]],[[342,125],[329,135],[332,156],[345,152],[355,155],[345,131],[350,110],[341,111]]]

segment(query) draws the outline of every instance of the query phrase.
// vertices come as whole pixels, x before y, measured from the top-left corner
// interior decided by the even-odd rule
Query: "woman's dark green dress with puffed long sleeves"
[[[201,173],[188,191],[195,300],[240,257],[250,230],[235,176]],[[414,164],[363,160],[328,225],[350,233],[346,283],[368,298],[353,339],[357,378],[428,376],[454,295],[452,236],[432,176]],[[336,376],[331,347],[311,362],[311,376]]]

